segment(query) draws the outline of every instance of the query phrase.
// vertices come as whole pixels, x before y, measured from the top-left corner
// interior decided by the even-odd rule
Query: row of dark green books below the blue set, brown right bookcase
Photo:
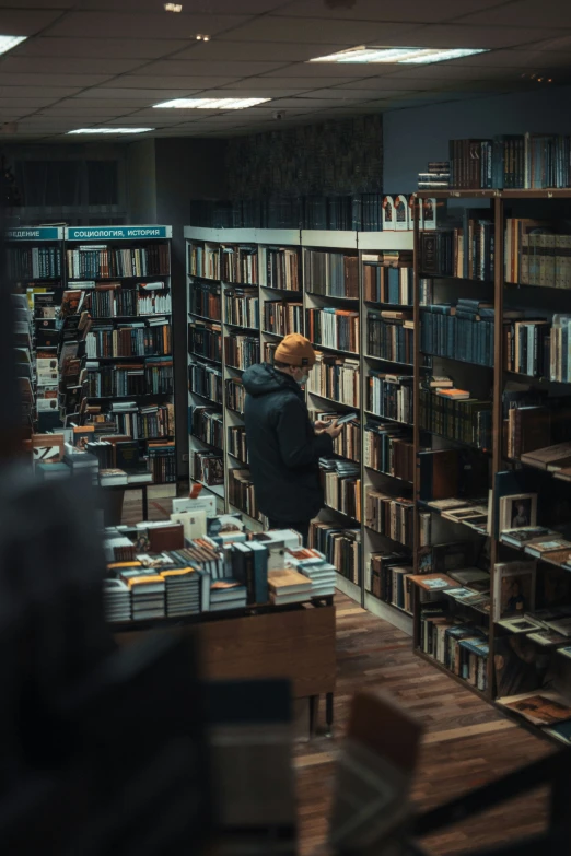
[[[469,395],[469,394],[468,394]],[[420,429],[479,449],[491,449],[492,407],[476,398],[454,400],[420,390]]]

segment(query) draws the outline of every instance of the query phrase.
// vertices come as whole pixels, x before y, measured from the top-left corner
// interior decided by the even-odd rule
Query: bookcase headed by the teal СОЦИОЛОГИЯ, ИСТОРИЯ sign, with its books
[[[88,404],[140,441],[155,484],[176,482],[172,226],[68,227],[68,291],[84,291]]]

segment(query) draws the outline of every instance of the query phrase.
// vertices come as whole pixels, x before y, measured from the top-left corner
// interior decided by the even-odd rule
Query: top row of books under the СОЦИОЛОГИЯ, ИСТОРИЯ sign
[[[78,247],[66,251],[69,279],[115,277],[167,277],[171,273],[168,244],[147,247]]]

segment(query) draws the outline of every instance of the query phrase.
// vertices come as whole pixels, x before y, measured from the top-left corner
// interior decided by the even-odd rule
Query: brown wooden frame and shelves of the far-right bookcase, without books
[[[494,274],[493,274],[493,282],[483,282],[479,280],[471,280],[468,281],[469,286],[473,290],[479,291],[479,297],[480,300],[487,300],[490,303],[493,303],[493,312],[494,312],[494,326],[493,326],[493,342],[492,342],[492,353],[493,353],[493,375],[489,376],[489,367],[483,365],[471,365],[469,367],[470,377],[473,378],[474,384],[481,383],[482,376],[488,373],[488,385],[490,386],[490,392],[491,392],[491,407],[492,407],[492,444],[491,448],[486,450],[486,453],[482,450],[482,455],[486,455],[488,460],[491,465],[491,482],[490,482],[490,491],[491,491],[491,503],[492,503],[492,529],[489,536],[487,537],[488,541],[488,549],[489,549],[489,567],[490,567],[490,578],[491,578],[491,607],[489,614],[482,615],[481,612],[478,612],[477,615],[475,613],[475,620],[476,623],[483,626],[488,634],[488,642],[489,642],[489,653],[488,653],[488,660],[487,660],[487,687],[486,690],[482,692],[481,690],[478,690],[476,687],[471,685],[469,682],[464,680],[463,678],[458,678],[458,676],[454,675],[452,671],[450,671],[446,666],[444,666],[442,662],[439,662],[434,657],[427,655],[420,647],[420,610],[421,610],[421,602],[420,602],[420,588],[417,586],[416,596],[413,598],[415,603],[415,610],[413,610],[413,645],[416,653],[422,657],[426,661],[431,662],[436,668],[446,671],[451,677],[453,677],[455,680],[467,687],[468,689],[473,690],[476,694],[478,694],[480,697],[485,697],[490,702],[496,702],[498,699],[498,691],[496,687],[496,669],[494,669],[494,655],[496,652],[499,649],[499,638],[505,637],[509,633],[509,631],[501,628],[494,620],[493,620],[493,593],[494,593],[494,575],[496,575],[496,565],[499,562],[505,562],[505,561],[513,561],[517,560],[520,558],[524,558],[522,555],[523,549],[517,550],[517,548],[514,548],[501,539],[501,532],[496,527],[496,518],[497,518],[497,507],[499,504],[499,495],[497,493],[497,481],[496,481],[496,473],[499,472],[505,472],[505,471],[514,471],[515,473],[522,472],[525,470],[531,470],[532,468],[528,468],[525,464],[520,462],[516,459],[510,459],[508,458],[508,452],[506,448],[503,445],[503,395],[505,390],[505,384],[508,382],[516,380],[524,383],[529,386],[531,390],[550,390],[553,392],[553,395],[566,395],[570,392],[570,385],[560,383],[560,382],[551,382],[548,377],[541,377],[541,376],[533,376],[527,374],[521,374],[521,373],[514,373],[512,371],[508,371],[505,368],[505,362],[504,362],[504,336],[503,336],[503,328],[504,328],[504,321],[505,321],[505,314],[508,309],[514,309],[518,308],[521,310],[524,310],[527,313],[527,317],[529,319],[536,318],[537,316],[540,317],[547,317],[548,319],[553,315],[553,313],[559,314],[571,314],[571,290],[558,288],[557,289],[557,297],[553,300],[553,292],[555,289],[551,290],[549,285],[529,285],[527,283],[512,283],[506,280],[505,277],[505,234],[506,234],[506,221],[510,216],[513,218],[534,218],[537,216],[534,209],[534,203],[537,203],[538,201],[543,201],[541,208],[540,208],[540,219],[543,221],[549,221],[549,208],[547,207],[547,203],[556,203],[558,200],[560,200],[560,204],[557,206],[557,210],[553,210],[552,219],[559,220],[566,216],[566,213],[568,213],[569,206],[566,208],[564,202],[566,200],[571,200],[571,189],[545,189],[545,190],[480,190],[480,189],[474,189],[474,190],[441,190],[441,191],[419,191],[417,195],[416,204],[417,207],[421,203],[421,200],[427,198],[436,198],[439,200],[462,200],[465,206],[469,207],[470,200],[481,200],[485,199],[488,201],[488,208],[479,209],[481,210],[482,218],[486,218],[493,221],[493,242],[494,242]],[[514,210],[512,209],[512,206],[517,203]],[[481,206],[481,202],[480,202]],[[462,209],[462,206],[459,207]],[[454,211],[458,211],[458,207],[454,208]],[[451,223],[450,228],[453,227],[453,224]],[[446,226],[443,224],[442,226],[439,226],[439,228],[445,230]],[[420,230],[418,227],[418,218],[417,223],[415,227],[415,319],[417,323],[417,330],[420,330],[421,325],[421,307],[419,305],[419,280],[423,275],[422,271],[422,259],[420,255]],[[426,274],[424,274],[426,275]],[[439,277],[438,274],[434,275],[434,288],[438,286],[438,282],[441,282],[441,288],[446,290],[446,279],[445,277]],[[462,282],[462,279],[456,278],[456,282]],[[448,289],[447,292],[448,295],[451,295],[451,291]],[[463,296],[463,292],[459,290],[456,290],[456,293],[454,295],[456,298]],[[473,296],[473,295],[470,295]],[[439,303],[436,297],[434,297],[434,303]],[[450,296],[446,296],[444,302],[450,302]],[[455,302],[455,300],[453,300]],[[436,357],[434,357],[435,360]],[[439,357],[440,359],[440,357]],[[434,366],[434,362],[432,364]],[[445,370],[434,368],[431,370],[431,374],[441,375],[441,374],[451,374],[453,377],[455,376],[456,371],[459,372],[458,366],[461,363],[457,364],[450,364],[446,366]],[[463,371],[467,371],[466,364],[462,366]],[[420,350],[420,336],[417,336],[416,345],[415,345],[415,409],[416,413],[418,414],[418,408],[419,408],[419,399],[420,399],[420,382],[422,377],[422,353]],[[468,377],[468,375],[466,375]],[[457,384],[461,387],[464,387],[468,389],[468,386],[464,386],[464,383]],[[428,432],[430,433],[430,432]],[[426,435],[427,432],[420,431],[418,419],[415,419],[415,427],[413,427],[413,435],[415,435],[415,455],[418,455],[418,452],[420,448],[422,448],[423,442],[426,445]],[[433,436],[436,436],[433,433]],[[447,442],[445,438],[440,438],[438,441],[438,447],[444,448],[444,447],[452,447],[454,443],[452,441]],[[536,470],[537,472],[537,470]],[[416,573],[419,573],[420,571],[420,550],[419,550],[419,530],[420,530],[420,518],[419,515],[421,512],[427,511],[426,503],[420,501],[420,471],[417,468],[416,469],[416,478],[415,478],[415,497],[416,497],[416,552],[415,552],[415,562],[416,562]],[[552,490],[553,482],[559,481],[560,484],[564,484],[561,480],[556,480],[549,477],[552,477],[553,473],[544,473],[545,477],[545,485],[540,485],[538,491],[538,506],[541,504],[541,492],[544,493],[544,497],[548,497],[550,490]],[[561,489],[563,490],[563,488]],[[432,512],[432,516],[436,517],[436,513]],[[538,514],[538,524],[549,526],[550,520],[541,518],[541,513],[539,511]],[[466,527],[462,527],[463,529],[466,529]],[[456,530],[459,532],[458,527],[456,527]],[[454,539],[452,536],[450,540],[461,540],[463,536],[459,536]],[[479,538],[482,538],[483,536],[478,536]],[[434,533],[432,538],[432,543],[435,543],[434,540]],[[532,559],[529,555],[525,555],[526,559]],[[551,565],[553,566],[553,563],[550,563],[547,558],[546,559],[539,559],[537,560],[537,583],[539,585],[540,576],[543,573],[547,572],[547,567]],[[560,568],[560,573],[564,574],[566,572],[561,570],[560,565],[556,565]],[[468,584],[469,588],[469,584]],[[539,590],[539,588],[538,588]],[[439,596],[441,597],[441,596]],[[433,596],[432,599],[436,599],[436,596]],[[464,618],[466,614],[469,614],[469,607],[463,607],[461,611],[461,617]],[[522,636],[522,638],[525,638]],[[550,657],[551,664],[553,665],[555,672],[557,675],[557,680],[559,683],[557,684],[557,689],[561,692],[563,692],[563,695],[566,694],[566,685],[569,685],[569,680],[571,679],[571,672],[569,669],[566,670],[567,665],[567,658],[561,657],[557,655],[557,648],[548,648],[546,646],[540,646],[539,644],[536,644],[532,641],[528,641],[528,646],[536,645],[537,654],[539,655],[548,655]],[[560,661],[559,666],[557,664],[553,664],[553,659],[558,658]],[[540,692],[540,689],[537,690]],[[516,692],[514,690],[514,692]],[[505,694],[505,693],[504,693]],[[509,711],[503,710],[500,706],[500,710],[502,710],[503,713],[509,715]],[[517,722],[526,727],[532,727],[537,732],[537,728],[534,726],[529,726],[524,719],[521,717],[517,717]],[[540,730],[540,729],[539,729]]]

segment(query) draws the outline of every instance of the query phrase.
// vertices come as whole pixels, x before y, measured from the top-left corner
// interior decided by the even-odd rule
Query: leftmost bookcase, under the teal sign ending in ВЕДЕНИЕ
[[[60,425],[59,412],[51,408],[54,399],[49,398],[50,390],[57,388],[58,379],[50,376],[49,359],[47,363],[39,363],[38,371],[37,349],[42,349],[45,357],[57,356],[57,345],[49,343],[48,338],[48,329],[53,329],[55,320],[46,317],[48,313],[44,308],[61,303],[66,284],[63,246],[63,228],[59,226],[22,226],[5,233],[10,289],[27,295],[31,315],[30,318],[24,317],[23,304],[15,308],[23,422],[27,429],[40,431]]]

